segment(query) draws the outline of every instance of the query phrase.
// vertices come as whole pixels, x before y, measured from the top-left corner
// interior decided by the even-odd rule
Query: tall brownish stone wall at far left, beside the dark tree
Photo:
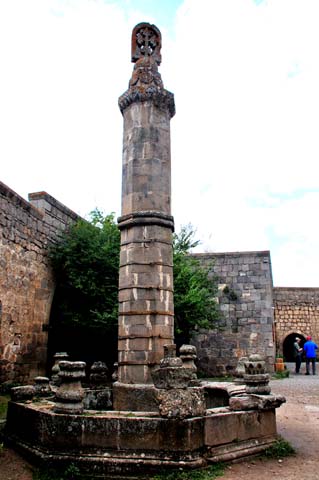
[[[78,216],[45,192],[0,182],[0,383],[44,374],[54,280],[47,249]]]

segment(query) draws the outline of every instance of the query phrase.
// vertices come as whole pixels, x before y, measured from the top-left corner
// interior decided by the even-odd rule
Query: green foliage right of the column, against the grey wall
[[[198,244],[191,225],[173,237],[174,310],[177,343],[189,342],[198,328],[211,328],[219,318],[216,302],[218,286],[212,264],[204,267],[191,256]]]

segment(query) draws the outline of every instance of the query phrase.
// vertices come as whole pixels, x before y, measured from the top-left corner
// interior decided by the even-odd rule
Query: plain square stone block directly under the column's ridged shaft
[[[115,382],[113,384],[113,409],[129,412],[158,413],[155,392],[154,385],[130,385]]]

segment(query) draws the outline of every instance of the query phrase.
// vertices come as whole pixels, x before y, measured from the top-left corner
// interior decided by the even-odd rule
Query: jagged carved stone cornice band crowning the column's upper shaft
[[[163,88],[149,86],[144,88],[129,88],[119,98],[119,107],[121,112],[135,102],[146,102],[152,100],[154,105],[160,109],[168,110],[170,117],[175,115],[174,94]]]

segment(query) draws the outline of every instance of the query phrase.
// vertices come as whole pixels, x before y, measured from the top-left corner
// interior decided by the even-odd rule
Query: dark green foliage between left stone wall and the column
[[[94,210],[90,221],[81,219],[62,234],[50,251],[57,282],[57,323],[116,327],[119,252],[114,214],[104,216]]]

